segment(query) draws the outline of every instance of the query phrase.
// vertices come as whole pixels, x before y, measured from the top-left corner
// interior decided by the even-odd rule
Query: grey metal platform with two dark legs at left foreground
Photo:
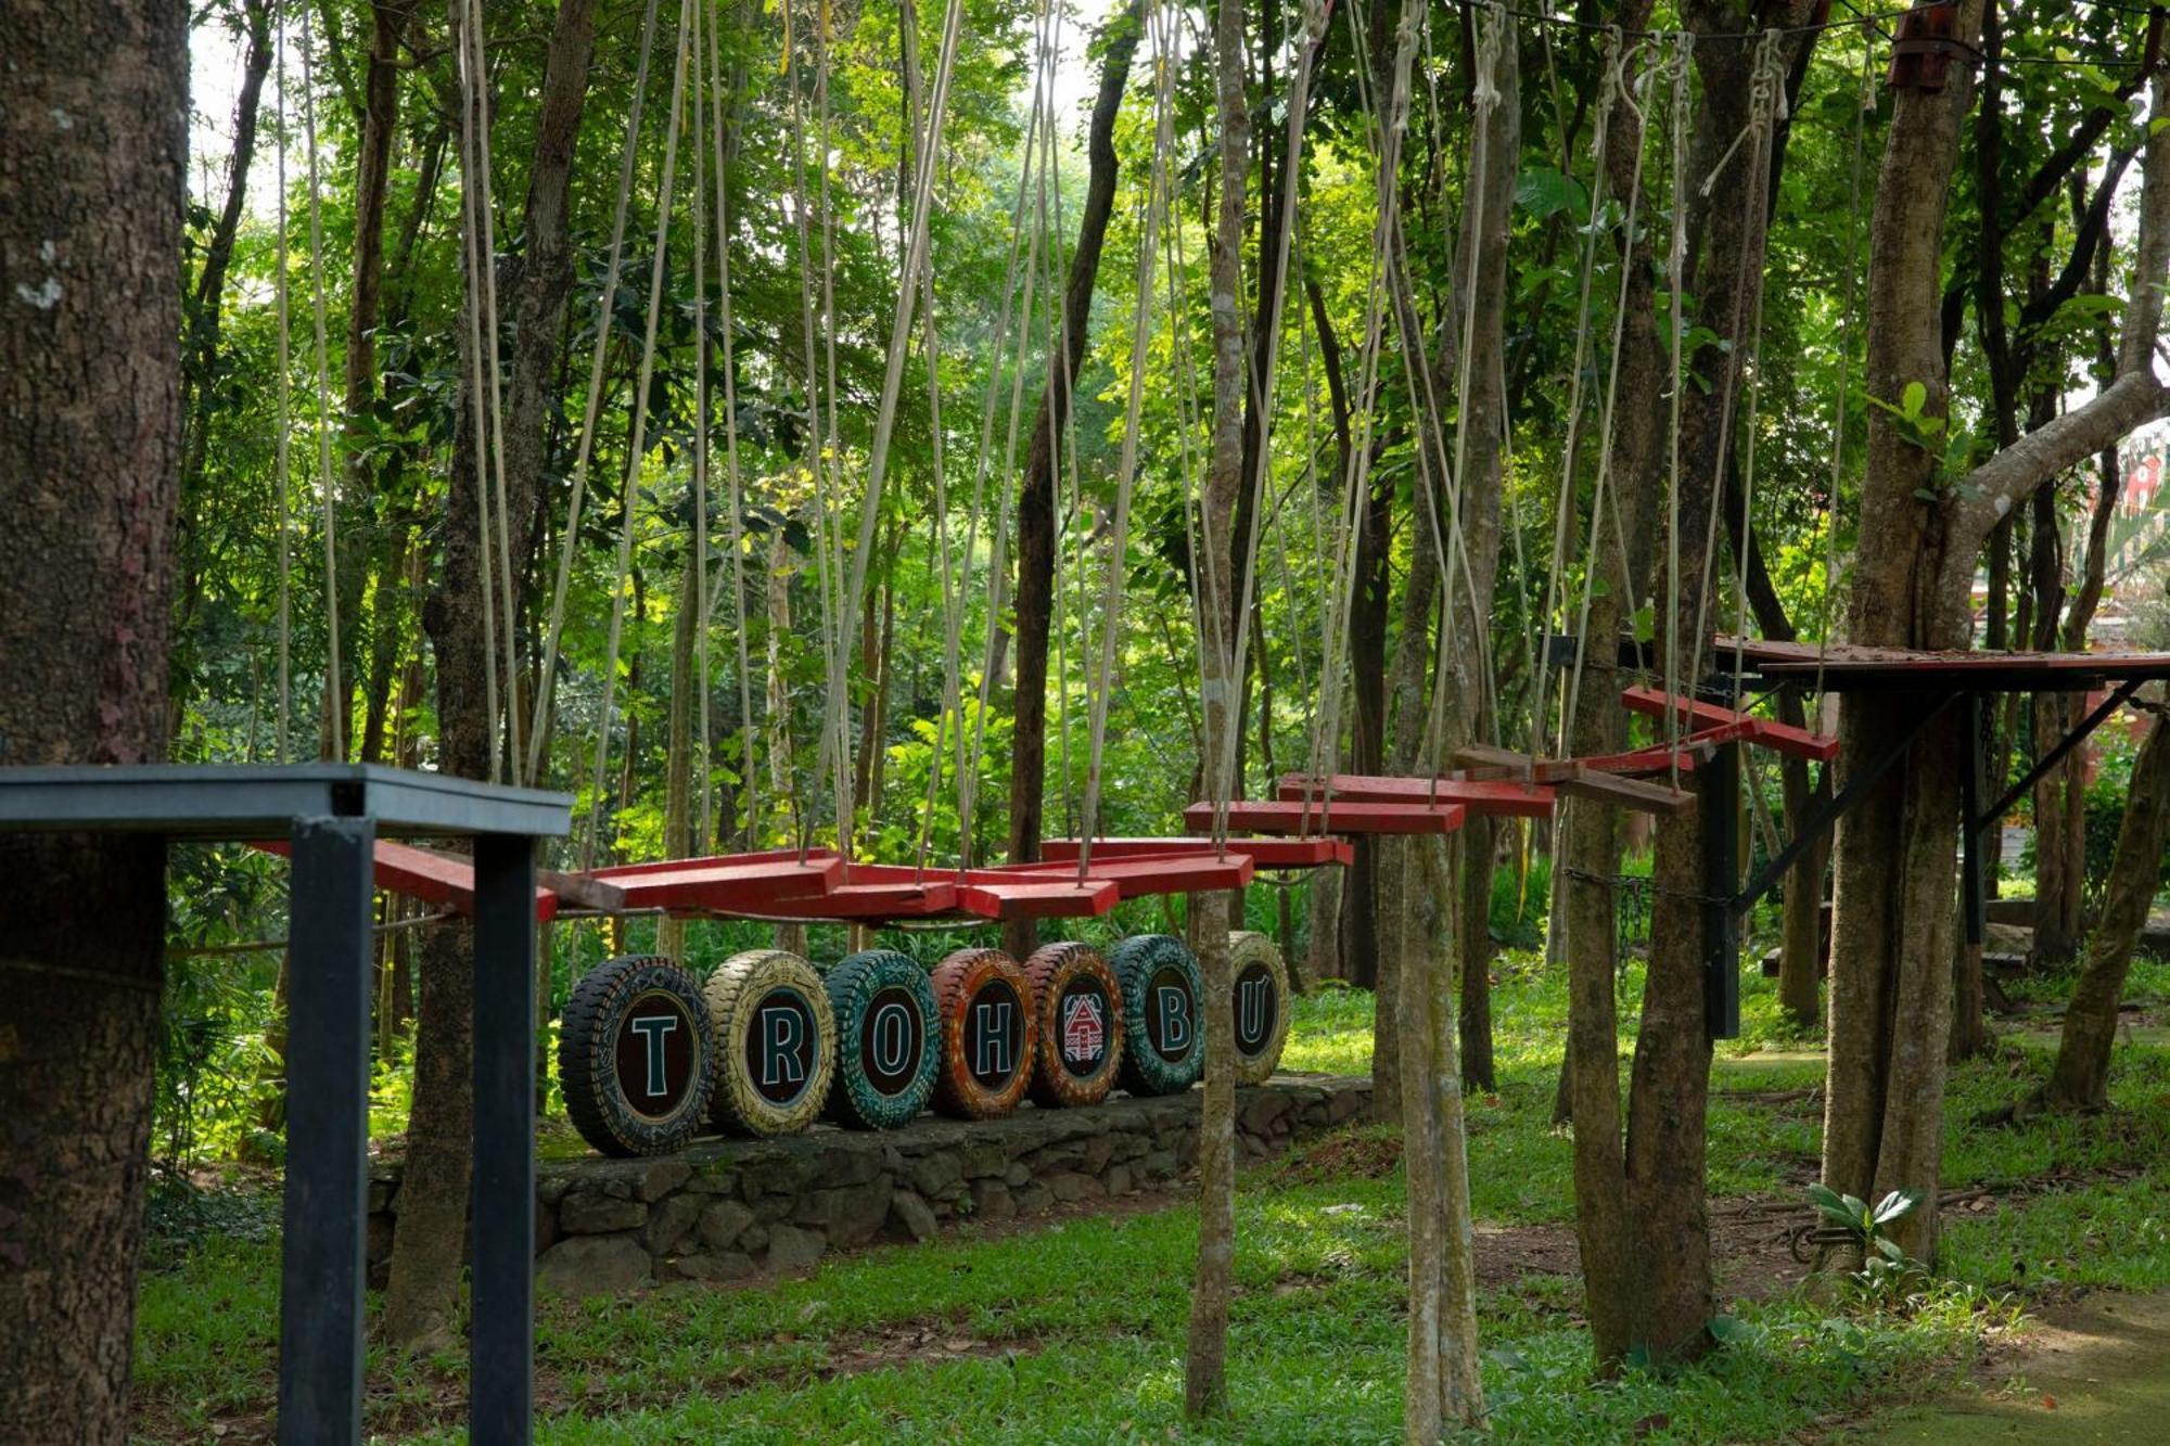
[[[280,1442],[362,1439],[369,953],[378,836],[475,840],[469,1437],[534,1403],[534,840],[571,799],[365,764],[0,769],[0,829],[293,840]]]

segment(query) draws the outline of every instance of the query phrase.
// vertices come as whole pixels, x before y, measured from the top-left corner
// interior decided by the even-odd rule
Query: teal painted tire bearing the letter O
[[[927,971],[894,949],[868,949],[838,960],[825,984],[835,1014],[829,1118],[851,1129],[896,1129],[916,1118],[942,1064]]]

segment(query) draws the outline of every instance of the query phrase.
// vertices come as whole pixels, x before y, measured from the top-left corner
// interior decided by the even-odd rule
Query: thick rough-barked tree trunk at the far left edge
[[[11,7],[0,115],[0,766],[163,762],[187,7]],[[0,871],[0,1431],[122,1442],[165,845],[7,834]]]

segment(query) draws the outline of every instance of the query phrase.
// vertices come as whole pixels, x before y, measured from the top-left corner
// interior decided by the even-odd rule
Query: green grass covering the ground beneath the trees
[[[1473,1207],[1491,1227],[1571,1218],[1569,1140],[1552,1129],[1565,990],[1532,955],[1499,960],[1495,1094],[1469,1101]],[[1623,973],[1632,1025],[1638,968]],[[1367,1073],[1369,997],[1298,1001],[1289,1068]],[[1814,1040],[1751,979],[1749,1038],[1712,1066],[1719,1196],[1792,1194],[1814,1168],[1823,1073]],[[1625,1066],[1625,1049],[1623,1049]],[[1951,1277],[1905,1314],[1803,1298],[1743,1305],[1736,1340],[1675,1374],[1597,1385],[1580,1285],[1526,1274],[1480,1301],[1502,1442],[1760,1442],[1827,1433],[1960,1383],[2009,1327],[2005,1292],[2170,1285],[2170,1049],[2118,1051],[2116,1109],[1988,1127],[2046,1068],[2020,1042],[1968,1064],[1946,1103],[1953,1190],[2025,1185],[1949,1218]],[[2059,1183],[2062,1181],[2062,1183]],[[1196,1212],[1076,1218],[829,1261],[746,1290],[673,1285],[545,1301],[547,1442],[1391,1442],[1400,1437],[1404,1190],[1393,1131],[1356,1127],[1246,1172],[1230,1327],[1233,1413],[1180,1416]],[[1803,1212],[1805,1218],[1805,1212]],[[273,1242],[197,1235],[141,1288],[145,1439],[256,1437],[269,1424],[278,1316]],[[378,1303],[371,1298],[371,1309]],[[456,1439],[460,1359],[369,1359],[369,1426]]]

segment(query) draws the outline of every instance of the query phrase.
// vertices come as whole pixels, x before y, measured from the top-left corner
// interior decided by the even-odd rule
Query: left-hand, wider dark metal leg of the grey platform
[[[362,1439],[371,819],[297,819],[278,1439]]]

